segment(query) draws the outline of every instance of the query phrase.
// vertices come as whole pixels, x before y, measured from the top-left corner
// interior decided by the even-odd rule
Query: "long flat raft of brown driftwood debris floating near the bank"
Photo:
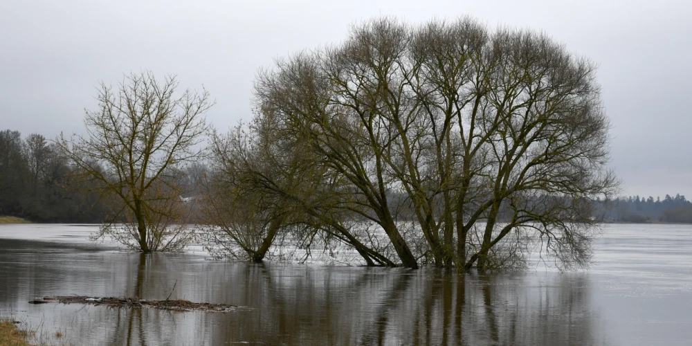
[[[107,307],[153,307],[171,311],[207,311],[207,312],[230,312],[235,311],[235,305],[229,304],[210,304],[196,303],[189,300],[144,300],[138,298],[118,298],[118,297],[86,297],[80,295],[57,296],[35,298],[29,304],[45,304],[48,302],[60,302],[62,304],[91,304],[104,305]]]

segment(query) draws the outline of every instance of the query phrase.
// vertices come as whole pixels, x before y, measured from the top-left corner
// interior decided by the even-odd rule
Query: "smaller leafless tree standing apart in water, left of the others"
[[[61,136],[58,144],[76,177],[111,198],[113,215],[98,237],[145,253],[178,251],[190,240],[181,224],[188,206],[181,195],[182,166],[201,155],[209,93],[176,94],[174,77],[131,74],[117,90],[101,84],[98,109],[87,110],[87,136]]]

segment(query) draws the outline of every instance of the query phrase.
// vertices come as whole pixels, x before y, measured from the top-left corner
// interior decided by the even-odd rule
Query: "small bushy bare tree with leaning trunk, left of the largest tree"
[[[282,226],[285,200],[273,193],[281,184],[280,172],[259,142],[247,136],[243,125],[227,136],[212,136],[212,167],[201,195],[210,227],[202,237],[216,257],[260,262]],[[267,186],[264,193],[257,185]]]

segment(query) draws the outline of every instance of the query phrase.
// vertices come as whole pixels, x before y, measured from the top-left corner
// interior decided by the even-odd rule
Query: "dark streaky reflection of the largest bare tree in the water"
[[[594,345],[585,279],[248,266],[253,313],[213,339],[282,345]]]

